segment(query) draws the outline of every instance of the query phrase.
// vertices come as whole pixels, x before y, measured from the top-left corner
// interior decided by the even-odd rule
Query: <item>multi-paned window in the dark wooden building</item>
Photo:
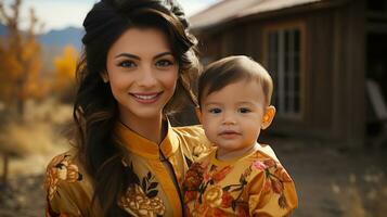
[[[274,82],[272,102],[282,117],[302,115],[302,29],[296,25],[265,31],[266,65]]]

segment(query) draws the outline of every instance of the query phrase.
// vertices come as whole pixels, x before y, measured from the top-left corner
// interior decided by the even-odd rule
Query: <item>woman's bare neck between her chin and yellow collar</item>
[[[142,137],[159,144],[166,135],[163,127],[163,115],[141,118],[134,115],[120,115],[120,122]]]

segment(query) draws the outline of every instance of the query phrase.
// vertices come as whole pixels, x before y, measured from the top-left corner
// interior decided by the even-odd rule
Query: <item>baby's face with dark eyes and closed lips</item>
[[[230,153],[257,141],[265,112],[262,87],[241,80],[205,97],[198,116],[208,139]]]

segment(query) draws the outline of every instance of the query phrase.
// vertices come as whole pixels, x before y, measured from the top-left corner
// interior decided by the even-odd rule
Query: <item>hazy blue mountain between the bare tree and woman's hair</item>
[[[50,30],[47,34],[40,35],[39,41],[47,47],[64,47],[72,44],[79,51],[82,47],[81,38],[83,30],[81,28],[67,27],[60,30]]]

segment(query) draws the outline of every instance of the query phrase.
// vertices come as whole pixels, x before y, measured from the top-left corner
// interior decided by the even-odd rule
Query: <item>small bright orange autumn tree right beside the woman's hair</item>
[[[79,53],[73,46],[65,46],[60,56],[54,58],[55,80],[53,89],[62,101],[69,102],[75,94],[75,71]]]

